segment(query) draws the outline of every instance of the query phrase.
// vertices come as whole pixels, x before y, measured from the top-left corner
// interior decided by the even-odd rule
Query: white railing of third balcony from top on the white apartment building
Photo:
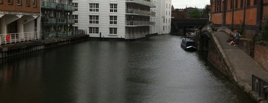
[[[150,26],[155,25],[154,21],[126,21],[126,26]]]

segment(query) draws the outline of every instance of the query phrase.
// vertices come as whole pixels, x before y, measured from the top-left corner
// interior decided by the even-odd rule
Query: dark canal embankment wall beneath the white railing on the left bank
[[[36,50],[56,47],[63,44],[75,43],[88,40],[88,35],[68,36],[48,40],[30,40],[24,42],[1,44],[0,58],[32,52]]]

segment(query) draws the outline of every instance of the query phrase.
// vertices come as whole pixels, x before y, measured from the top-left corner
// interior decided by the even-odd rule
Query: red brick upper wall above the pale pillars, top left
[[[29,6],[25,5],[25,0],[20,1],[20,5],[17,5],[17,0],[12,0],[12,4],[7,4],[7,0],[2,0],[0,3],[1,11],[21,11],[21,12],[40,12],[40,0],[35,0],[36,6],[33,7],[32,0],[29,0]]]

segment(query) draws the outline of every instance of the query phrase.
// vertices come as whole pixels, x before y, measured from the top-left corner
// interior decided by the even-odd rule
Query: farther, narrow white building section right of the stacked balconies
[[[151,17],[151,21],[155,21],[155,26],[150,26],[150,33],[167,34],[171,31],[171,0],[153,0],[156,7],[152,7],[151,11],[156,12],[155,17]]]

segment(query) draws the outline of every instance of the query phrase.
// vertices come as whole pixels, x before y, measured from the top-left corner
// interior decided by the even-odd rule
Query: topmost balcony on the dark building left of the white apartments
[[[50,8],[50,9],[74,11],[74,6],[73,5],[50,2],[50,1],[45,1],[45,0],[41,0],[41,8]]]

